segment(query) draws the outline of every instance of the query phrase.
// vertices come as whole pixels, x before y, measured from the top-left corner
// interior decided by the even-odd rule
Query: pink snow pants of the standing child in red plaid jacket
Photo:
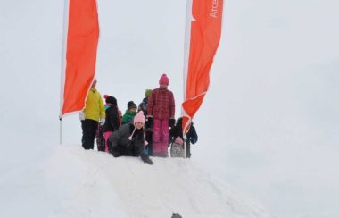
[[[153,120],[153,155],[168,156],[169,147],[169,120]]]

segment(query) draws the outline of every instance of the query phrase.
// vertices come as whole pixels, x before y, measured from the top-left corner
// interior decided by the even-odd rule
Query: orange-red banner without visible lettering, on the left
[[[85,107],[95,77],[99,22],[95,0],[70,0],[62,115]]]

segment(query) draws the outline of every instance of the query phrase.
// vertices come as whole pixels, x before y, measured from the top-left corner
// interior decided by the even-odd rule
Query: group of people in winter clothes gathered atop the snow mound
[[[93,81],[85,108],[79,113],[82,147],[94,149],[96,138],[99,151],[114,157],[140,156],[145,163],[153,164],[150,155],[167,157],[170,145],[183,146],[182,118],[175,120],[175,100],[166,74],[161,75],[159,88],[145,90],[145,98],[138,106],[129,101],[123,115],[114,96],[104,95],[103,104],[96,82]],[[191,156],[190,143],[197,139],[192,123],[186,134],[186,157]]]

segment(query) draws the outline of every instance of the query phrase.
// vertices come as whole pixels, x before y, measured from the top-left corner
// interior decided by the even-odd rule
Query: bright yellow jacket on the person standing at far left
[[[95,88],[91,88],[88,92],[84,113],[86,115],[86,119],[97,122],[100,118],[106,117],[103,107],[103,98]]]

